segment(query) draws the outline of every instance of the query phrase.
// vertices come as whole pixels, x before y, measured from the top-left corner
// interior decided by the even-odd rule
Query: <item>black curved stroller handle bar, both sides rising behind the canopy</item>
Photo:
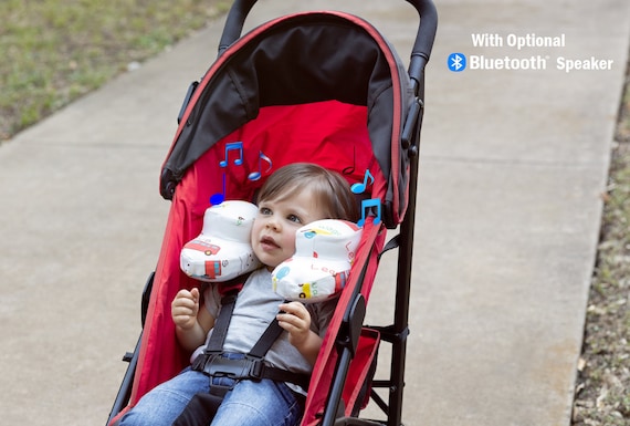
[[[420,81],[424,65],[431,56],[431,48],[435,39],[438,29],[438,12],[432,0],[406,0],[411,3],[420,15],[420,24],[413,50],[411,51],[411,63],[409,75],[416,81]],[[245,18],[252,10],[256,0],[235,0],[228,13],[225,27],[219,42],[219,55],[225,51],[234,41],[241,37]]]

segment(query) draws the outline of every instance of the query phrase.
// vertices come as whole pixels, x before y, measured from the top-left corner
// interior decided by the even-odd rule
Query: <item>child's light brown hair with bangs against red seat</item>
[[[256,201],[283,200],[305,187],[324,208],[325,219],[359,219],[357,200],[347,180],[312,163],[293,163],[275,170],[262,186]]]

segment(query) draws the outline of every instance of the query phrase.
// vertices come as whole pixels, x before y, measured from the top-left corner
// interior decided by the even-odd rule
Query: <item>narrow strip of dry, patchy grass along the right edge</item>
[[[630,425],[630,66],[588,302],[573,426]]]

